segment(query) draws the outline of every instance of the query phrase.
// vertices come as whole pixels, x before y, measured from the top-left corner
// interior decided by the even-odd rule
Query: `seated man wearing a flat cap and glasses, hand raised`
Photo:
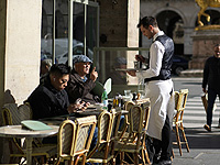
[[[96,86],[96,79],[98,77],[96,67],[94,67],[89,74],[91,63],[91,59],[85,55],[77,55],[74,57],[74,68],[66,87],[69,102],[75,102],[78,98],[90,103],[100,101],[100,98],[91,91]]]

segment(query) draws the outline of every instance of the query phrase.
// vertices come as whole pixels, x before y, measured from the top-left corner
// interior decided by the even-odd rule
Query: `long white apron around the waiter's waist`
[[[148,128],[146,133],[151,138],[162,140],[162,129],[166,120],[166,114],[168,114],[169,121],[173,121],[175,102],[174,97],[170,97],[172,89],[172,79],[152,80],[146,84],[145,94],[151,101]]]

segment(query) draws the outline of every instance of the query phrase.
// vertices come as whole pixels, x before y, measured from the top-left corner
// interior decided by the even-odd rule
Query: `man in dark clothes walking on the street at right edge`
[[[206,61],[204,68],[202,91],[207,92],[208,85],[208,108],[207,124],[204,128],[211,132],[212,109],[217,95],[220,98],[220,44],[215,45],[215,55]]]

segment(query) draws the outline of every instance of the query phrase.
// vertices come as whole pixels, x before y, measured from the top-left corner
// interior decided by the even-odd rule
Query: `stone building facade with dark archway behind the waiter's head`
[[[161,30],[174,40],[176,55],[193,55],[193,38],[200,8],[195,0],[141,0],[141,18],[155,16]],[[208,8],[211,24],[220,24],[220,8]],[[201,16],[202,22],[208,24]],[[142,46],[148,47],[147,38],[142,37]]]

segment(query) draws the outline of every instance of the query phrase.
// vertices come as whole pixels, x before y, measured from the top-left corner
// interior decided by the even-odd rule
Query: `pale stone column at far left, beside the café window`
[[[41,0],[0,1],[0,107],[22,103],[38,85],[41,16]],[[8,163],[2,139],[0,146],[0,162]]]

